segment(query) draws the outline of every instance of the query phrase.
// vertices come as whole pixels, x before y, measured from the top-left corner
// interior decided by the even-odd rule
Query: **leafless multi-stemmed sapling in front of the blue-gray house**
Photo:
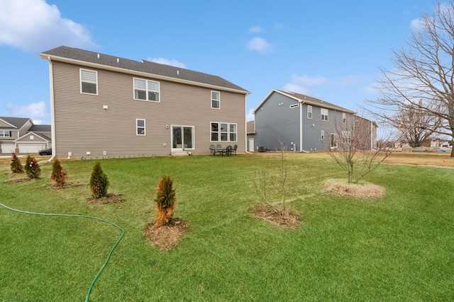
[[[355,115],[340,123],[334,120],[328,130],[328,154],[345,170],[348,183],[358,183],[394,151],[377,144],[377,139],[391,141],[391,134],[387,139],[377,138],[372,127],[376,127],[374,122]]]

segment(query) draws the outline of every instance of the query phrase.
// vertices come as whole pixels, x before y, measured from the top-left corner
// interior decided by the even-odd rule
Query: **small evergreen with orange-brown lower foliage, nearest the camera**
[[[162,175],[157,187],[156,222],[152,229],[165,226],[172,219],[176,200],[172,178],[169,175]]]

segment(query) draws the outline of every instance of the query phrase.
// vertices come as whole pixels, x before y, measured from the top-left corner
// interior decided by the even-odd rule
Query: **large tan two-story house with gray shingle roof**
[[[249,92],[219,76],[65,46],[40,57],[49,62],[53,156],[246,150]]]

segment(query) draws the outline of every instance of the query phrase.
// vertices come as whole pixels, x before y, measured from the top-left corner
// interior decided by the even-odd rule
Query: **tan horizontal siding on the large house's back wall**
[[[221,109],[214,110],[214,89],[84,67],[98,74],[98,94],[89,95],[80,93],[80,66],[54,61],[52,68],[56,156],[167,155],[172,125],[194,127],[192,153],[209,153],[210,122],[236,123],[237,141],[220,144],[245,150],[245,94],[216,89]],[[133,78],[159,81],[160,103],[134,100]],[[145,136],[136,135],[136,119],[145,120]]]

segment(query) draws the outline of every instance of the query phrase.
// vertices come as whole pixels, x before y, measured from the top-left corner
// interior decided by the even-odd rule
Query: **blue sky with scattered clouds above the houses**
[[[0,0],[0,116],[50,124],[48,62],[60,45],[221,76],[361,111],[378,67],[391,67],[427,0]],[[184,101],[184,100],[182,100]]]

